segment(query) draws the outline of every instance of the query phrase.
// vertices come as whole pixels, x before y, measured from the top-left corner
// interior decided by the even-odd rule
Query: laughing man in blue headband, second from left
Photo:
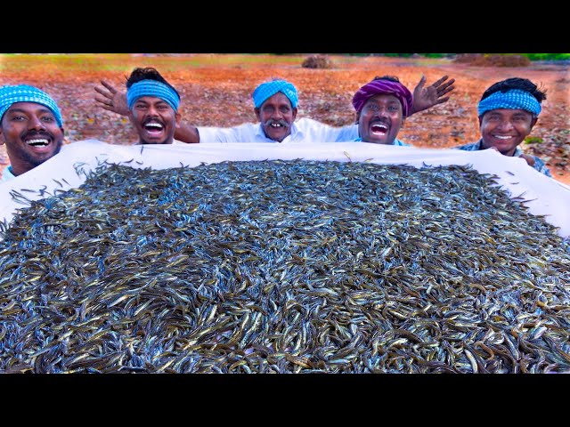
[[[172,144],[180,122],[180,95],[155,68],[134,68],[126,80],[129,118],[139,144]]]

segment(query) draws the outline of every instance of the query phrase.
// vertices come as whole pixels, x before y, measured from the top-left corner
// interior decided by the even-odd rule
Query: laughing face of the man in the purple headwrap
[[[394,95],[374,95],[362,106],[358,134],[365,142],[394,144],[404,121],[400,100]]]

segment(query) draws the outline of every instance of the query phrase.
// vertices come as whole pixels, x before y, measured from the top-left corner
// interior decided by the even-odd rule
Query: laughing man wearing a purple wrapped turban
[[[353,106],[359,135],[354,141],[410,146],[396,138],[413,109],[413,96],[398,77],[374,77],[354,93]]]

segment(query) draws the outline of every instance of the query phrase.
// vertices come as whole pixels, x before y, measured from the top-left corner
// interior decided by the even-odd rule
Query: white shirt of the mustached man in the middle
[[[277,142],[267,138],[261,123],[244,123],[234,127],[198,127],[199,142]],[[358,125],[335,127],[312,118],[293,122],[286,142],[341,142],[358,138]]]

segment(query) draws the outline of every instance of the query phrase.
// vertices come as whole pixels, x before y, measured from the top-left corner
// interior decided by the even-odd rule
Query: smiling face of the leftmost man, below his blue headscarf
[[[53,111],[36,102],[14,102],[0,122],[12,173],[20,175],[60,152],[63,128]]]

